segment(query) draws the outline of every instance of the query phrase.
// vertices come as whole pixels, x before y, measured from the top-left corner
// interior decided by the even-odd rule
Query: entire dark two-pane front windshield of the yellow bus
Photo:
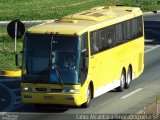
[[[78,84],[77,36],[27,34],[23,55],[23,81]]]

